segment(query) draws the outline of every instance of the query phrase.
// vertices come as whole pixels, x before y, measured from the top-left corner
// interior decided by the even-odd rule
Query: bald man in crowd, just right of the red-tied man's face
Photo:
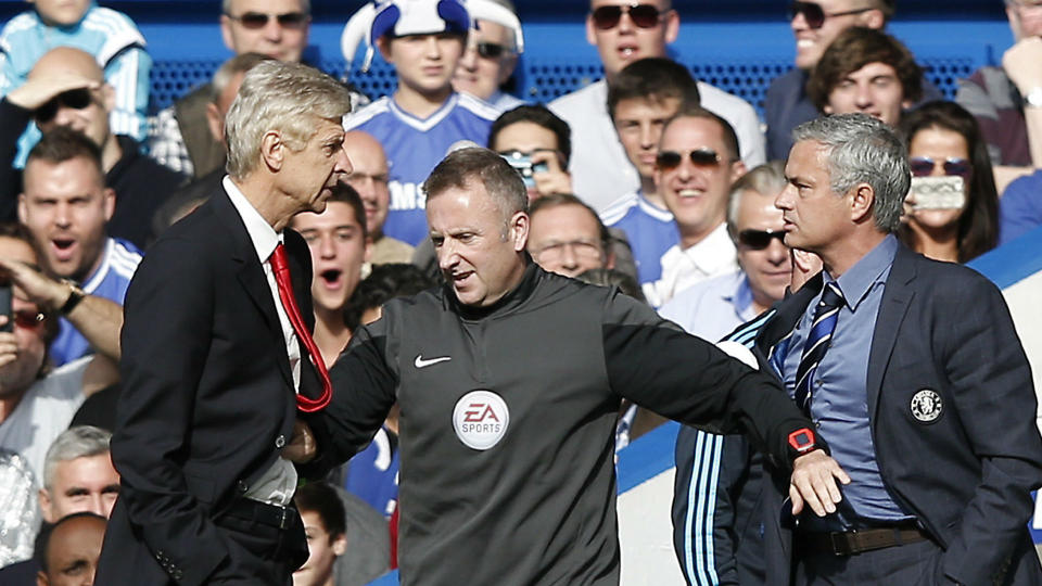
[[[412,258],[412,246],[383,233],[391,205],[387,154],[383,146],[369,132],[352,130],[344,136],[344,151],[354,167],[347,183],[355,188],[366,207],[366,231],[372,239],[370,262],[373,265],[408,263]]]

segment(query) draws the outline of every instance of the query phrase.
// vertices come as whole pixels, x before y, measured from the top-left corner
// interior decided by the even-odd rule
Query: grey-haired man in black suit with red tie
[[[307,245],[284,228],[322,212],[351,171],[350,109],[309,67],[251,69],[226,119],[223,189],[141,264],[112,440],[123,492],[98,584],[281,586],[307,558],[287,458],[297,409],[321,408],[330,387],[308,331]]]

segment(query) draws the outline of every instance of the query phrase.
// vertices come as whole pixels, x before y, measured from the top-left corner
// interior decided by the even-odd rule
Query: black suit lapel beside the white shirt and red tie
[[[224,188],[211,201],[214,205],[215,215],[228,227],[228,235],[233,242],[232,259],[239,266],[236,277],[245,290],[246,296],[250,297],[250,301],[263,317],[274,342],[277,343],[277,353],[281,358],[278,360],[279,371],[290,388],[293,388],[293,373],[290,372],[290,357],[285,353],[282,324],[279,322],[279,316],[275,309],[275,300],[271,297],[271,289],[264,276],[264,268],[257,259],[257,252],[253,246],[253,241],[250,240],[250,233],[246,232],[246,226],[242,222],[239,212],[231,204],[231,200],[228,199]]]

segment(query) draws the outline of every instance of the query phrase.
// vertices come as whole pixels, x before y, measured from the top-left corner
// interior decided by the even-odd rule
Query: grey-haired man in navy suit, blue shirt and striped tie
[[[785,243],[825,271],[776,306],[754,352],[851,483],[825,518],[793,496],[791,531],[776,476],[768,579],[789,584],[795,560],[797,584],[1042,583],[1026,527],[1037,399],[1002,294],[894,239],[910,174],[881,123],[829,116],[795,137],[775,205]]]

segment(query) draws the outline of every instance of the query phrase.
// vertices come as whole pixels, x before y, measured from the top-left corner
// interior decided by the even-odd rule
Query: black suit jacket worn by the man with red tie
[[[307,244],[284,240],[312,328]],[[275,302],[224,190],[155,242],[124,307],[112,440],[123,487],[97,584],[204,584],[228,557],[213,519],[275,462],[296,417]],[[302,392],[317,395],[316,380],[302,360]]]

